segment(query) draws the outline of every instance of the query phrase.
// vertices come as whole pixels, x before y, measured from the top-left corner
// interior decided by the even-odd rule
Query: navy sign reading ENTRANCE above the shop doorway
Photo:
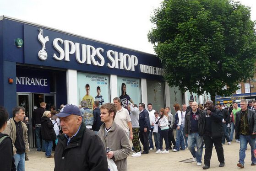
[[[17,92],[50,93],[50,76],[38,70],[16,70]]]

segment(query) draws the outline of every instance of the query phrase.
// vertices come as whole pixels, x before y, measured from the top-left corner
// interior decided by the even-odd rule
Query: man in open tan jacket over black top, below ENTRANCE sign
[[[12,140],[14,164],[17,171],[25,171],[25,152],[29,152],[29,144],[27,137],[27,126],[23,123],[25,117],[24,107],[14,107],[11,118],[4,131]]]

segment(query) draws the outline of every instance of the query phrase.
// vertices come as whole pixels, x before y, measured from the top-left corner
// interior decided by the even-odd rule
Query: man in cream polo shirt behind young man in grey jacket
[[[121,100],[119,97],[115,97],[113,101],[117,109],[114,122],[118,124],[121,128],[123,128],[126,131],[127,136],[132,140],[133,135],[132,135],[131,118],[130,118],[129,112],[127,109],[122,107]],[[130,133],[129,133],[129,130],[130,130]]]

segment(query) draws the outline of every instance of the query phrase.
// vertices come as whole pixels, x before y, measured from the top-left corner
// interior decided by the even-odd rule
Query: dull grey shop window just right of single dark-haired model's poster
[[[165,107],[163,81],[147,80],[147,102],[152,103],[154,110]]]

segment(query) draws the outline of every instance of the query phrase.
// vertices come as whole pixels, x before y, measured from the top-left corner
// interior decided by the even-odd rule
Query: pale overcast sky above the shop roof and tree
[[[106,43],[154,54],[147,33],[162,0],[0,0],[0,16],[53,27]],[[240,0],[251,7],[256,0]]]

